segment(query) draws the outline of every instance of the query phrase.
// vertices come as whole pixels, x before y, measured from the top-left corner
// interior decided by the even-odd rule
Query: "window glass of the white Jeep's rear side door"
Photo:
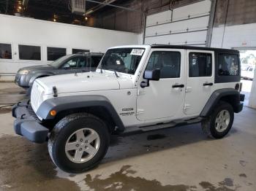
[[[189,52],[189,77],[211,77],[211,54]]]

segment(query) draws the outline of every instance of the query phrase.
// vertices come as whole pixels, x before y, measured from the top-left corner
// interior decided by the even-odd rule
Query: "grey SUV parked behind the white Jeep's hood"
[[[103,53],[78,53],[64,55],[53,63],[24,67],[18,70],[15,83],[23,88],[29,88],[34,80],[40,77],[49,77],[59,74],[95,71],[102,59]]]

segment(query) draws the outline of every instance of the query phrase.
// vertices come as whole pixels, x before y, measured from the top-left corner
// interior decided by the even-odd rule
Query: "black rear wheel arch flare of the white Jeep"
[[[203,107],[200,117],[208,117],[219,101],[225,101],[233,107],[234,112],[240,112],[240,93],[233,88],[224,88],[214,91]]]

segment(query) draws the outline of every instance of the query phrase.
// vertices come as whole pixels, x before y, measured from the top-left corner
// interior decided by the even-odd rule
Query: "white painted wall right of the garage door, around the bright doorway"
[[[211,47],[243,48],[244,50],[255,49],[256,23],[214,28]],[[249,106],[256,108],[256,74],[252,82]]]

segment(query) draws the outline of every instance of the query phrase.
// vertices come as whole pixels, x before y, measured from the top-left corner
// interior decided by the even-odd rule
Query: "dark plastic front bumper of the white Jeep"
[[[12,117],[15,117],[15,133],[26,137],[32,142],[43,143],[48,138],[49,130],[39,124],[36,115],[33,114],[29,100],[19,102],[12,107]]]

